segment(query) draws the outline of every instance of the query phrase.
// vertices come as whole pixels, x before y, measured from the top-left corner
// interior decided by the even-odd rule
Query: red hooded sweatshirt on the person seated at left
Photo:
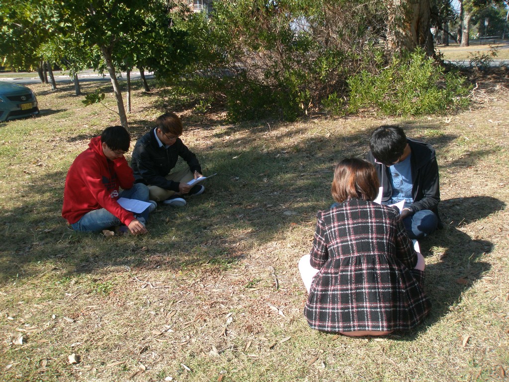
[[[128,226],[134,215],[122,208],[117,199],[119,187],[129,189],[133,184],[126,158],[109,160],[102,151],[101,137],[92,138],[89,148],[74,159],[67,173],[62,216],[73,224],[87,212],[105,208]]]

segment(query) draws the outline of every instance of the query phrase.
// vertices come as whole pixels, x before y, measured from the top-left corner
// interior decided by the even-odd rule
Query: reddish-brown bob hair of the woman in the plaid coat
[[[336,202],[349,198],[375,200],[379,187],[375,167],[364,159],[345,158],[337,163],[331,193]]]

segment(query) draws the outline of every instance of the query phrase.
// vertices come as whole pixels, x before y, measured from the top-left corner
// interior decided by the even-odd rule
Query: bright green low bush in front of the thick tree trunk
[[[375,73],[363,70],[350,77],[348,85],[351,113],[366,107],[386,115],[443,113],[469,102],[465,79],[455,72],[445,73],[421,50],[394,57]]]

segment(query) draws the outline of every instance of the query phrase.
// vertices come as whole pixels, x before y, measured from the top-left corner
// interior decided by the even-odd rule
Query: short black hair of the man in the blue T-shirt
[[[407,144],[407,136],[400,126],[382,125],[371,134],[371,153],[386,166],[398,161]]]

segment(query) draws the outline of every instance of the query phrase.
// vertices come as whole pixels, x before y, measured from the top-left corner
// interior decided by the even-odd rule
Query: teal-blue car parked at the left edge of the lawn
[[[37,98],[26,86],[0,81],[0,121],[39,114]]]

